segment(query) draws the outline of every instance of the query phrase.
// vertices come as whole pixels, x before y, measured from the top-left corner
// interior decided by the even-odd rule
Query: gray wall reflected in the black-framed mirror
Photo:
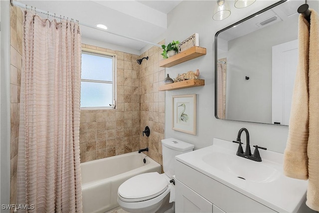
[[[228,42],[226,119],[272,123],[272,46],[298,38],[298,17]]]

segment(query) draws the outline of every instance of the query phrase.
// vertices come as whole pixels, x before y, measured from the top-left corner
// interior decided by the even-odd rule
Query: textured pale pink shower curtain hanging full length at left
[[[25,11],[23,30],[17,205],[82,212],[79,25]]]

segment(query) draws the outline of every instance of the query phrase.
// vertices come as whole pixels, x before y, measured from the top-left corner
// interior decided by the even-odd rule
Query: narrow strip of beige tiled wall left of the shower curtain
[[[10,204],[16,203],[16,170],[18,153],[21,58],[22,58],[22,22],[20,8],[10,6],[10,87],[11,87],[11,136],[10,136]],[[12,212],[12,210],[11,210]]]

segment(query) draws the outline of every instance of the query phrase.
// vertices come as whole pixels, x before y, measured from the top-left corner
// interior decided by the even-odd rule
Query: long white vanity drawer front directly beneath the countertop
[[[177,160],[175,160],[175,177],[178,181],[226,213],[276,213],[263,204]]]

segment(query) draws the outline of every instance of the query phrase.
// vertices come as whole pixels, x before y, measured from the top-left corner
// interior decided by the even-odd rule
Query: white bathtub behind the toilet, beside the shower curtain
[[[118,207],[118,188],[122,183],[142,173],[161,173],[160,164],[144,153],[138,152],[80,165],[83,213],[105,213]]]

